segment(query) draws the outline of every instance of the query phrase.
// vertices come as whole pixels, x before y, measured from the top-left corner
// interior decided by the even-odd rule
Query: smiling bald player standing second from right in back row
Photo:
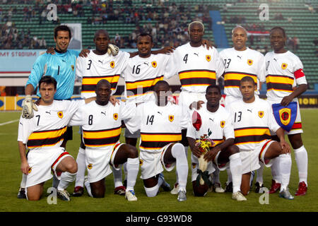
[[[247,31],[242,26],[236,26],[232,30],[233,47],[223,49],[220,52],[220,58],[223,60],[224,71],[224,93],[225,107],[230,105],[230,102],[242,99],[240,92],[240,81],[245,76],[250,76],[257,83],[255,93],[259,95],[259,82],[265,83],[265,60],[264,55],[256,50],[249,49],[246,46]],[[260,162],[261,164],[261,162]],[[264,165],[257,169],[256,192],[262,192],[263,187],[263,169]],[[232,190],[232,179],[228,171],[228,182],[225,191]]]

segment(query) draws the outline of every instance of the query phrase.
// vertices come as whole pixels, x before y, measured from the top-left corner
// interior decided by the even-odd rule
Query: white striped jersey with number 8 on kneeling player
[[[98,105],[95,101],[84,105],[73,115],[69,125],[82,126],[83,143],[88,148],[102,149],[119,141],[122,120],[134,117],[135,104]]]

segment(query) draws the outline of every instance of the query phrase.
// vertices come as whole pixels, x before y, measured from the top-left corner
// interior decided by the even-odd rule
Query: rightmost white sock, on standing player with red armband
[[[298,149],[294,149],[295,160],[298,167],[299,182],[305,182],[307,185],[308,155],[307,150],[302,145]]]

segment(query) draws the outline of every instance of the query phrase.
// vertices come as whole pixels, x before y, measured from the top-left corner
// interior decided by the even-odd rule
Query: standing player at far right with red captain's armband
[[[303,196],[307,192],[307,150],[302,143],[302,121],[300,117],[300,107],[298,97],[307,90],[307,81],[303,70],[302,62],[292,52],[285,49],[286,34],[281,27],[271,29],[271,46],[273,52],[265,56],[266,61],[266,83],[267,100],[271,104],[279,103],[287,106],[290,102],[297,102],[298,110],[295,123],[292,129],[287,133],[290,144],[295,153],[295,160],[298,167],[299,186],[296,196]],[[291,167],[290,155],[282,155],[278,161],[285,162],[286,167]],[[290,175],[290,172],[288,173]],[[272,166],[272,186],[269,193],[274,193],[281,188],[281,179],[279,176],[278,162]]]

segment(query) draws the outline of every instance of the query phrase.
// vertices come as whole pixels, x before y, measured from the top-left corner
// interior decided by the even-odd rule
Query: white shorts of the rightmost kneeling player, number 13
[[[271,167],[272,161],[269,162],[264,161],[264,156],[271,145],[271,143],[276,141],[266,140],[262,141],[257,145],[257,148],[254,150],[240,150],[240,157],[242,160],[242,174],[246,174],[248,172],[252,172],[261,167],[259,165],[259,161],[263,162],[266,167]]]

